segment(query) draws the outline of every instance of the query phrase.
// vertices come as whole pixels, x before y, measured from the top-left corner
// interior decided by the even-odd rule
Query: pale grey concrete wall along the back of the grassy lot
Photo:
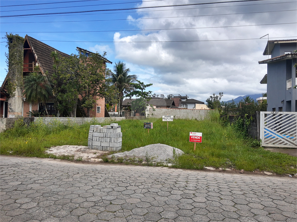
[[[194,109],[162,109],[156,108],[153,111],[149,109],[149,115],[153,114],[154,118],[162,118],[165,115],[173,115],[176,119],[197,119],[203,120],[209,112],[213,110],[194,110]]]

